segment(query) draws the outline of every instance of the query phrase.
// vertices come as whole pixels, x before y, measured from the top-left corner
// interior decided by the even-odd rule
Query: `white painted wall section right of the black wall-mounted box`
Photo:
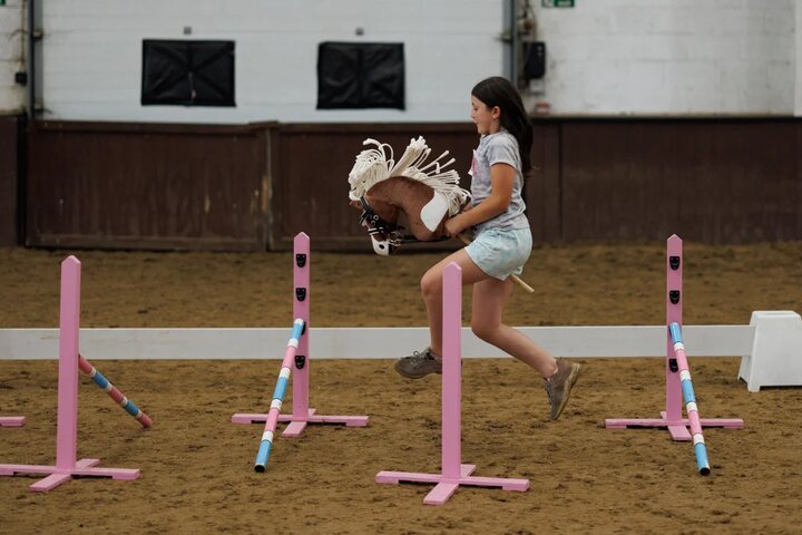
[[[799,0],[540,3],[532,1],[548,70],[539,99],[552,114],[794,111]]]

